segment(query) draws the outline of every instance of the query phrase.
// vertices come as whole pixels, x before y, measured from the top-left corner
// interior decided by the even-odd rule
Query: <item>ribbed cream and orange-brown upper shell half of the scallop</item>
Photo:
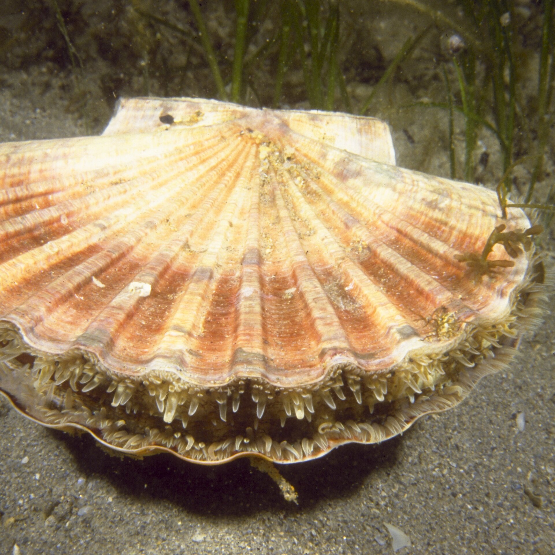
[[[496,195],[394,164],[371,118],[186,99],[123,100],[102,137],[3,144],[0,319],[40,351],[201,387],[440,352],[433,315],[502,320],[529,256],[472,279],[454,257],[502,221]]]

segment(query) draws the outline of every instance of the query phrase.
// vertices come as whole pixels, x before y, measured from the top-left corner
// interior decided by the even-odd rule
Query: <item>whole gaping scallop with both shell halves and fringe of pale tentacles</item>
[[[376,119],[127,99],[102,137],[0,145],[0,174],[0,390],[125,453],[380,442],[540,316],[533,249],[465,263],[524,212],[398,168]]]

